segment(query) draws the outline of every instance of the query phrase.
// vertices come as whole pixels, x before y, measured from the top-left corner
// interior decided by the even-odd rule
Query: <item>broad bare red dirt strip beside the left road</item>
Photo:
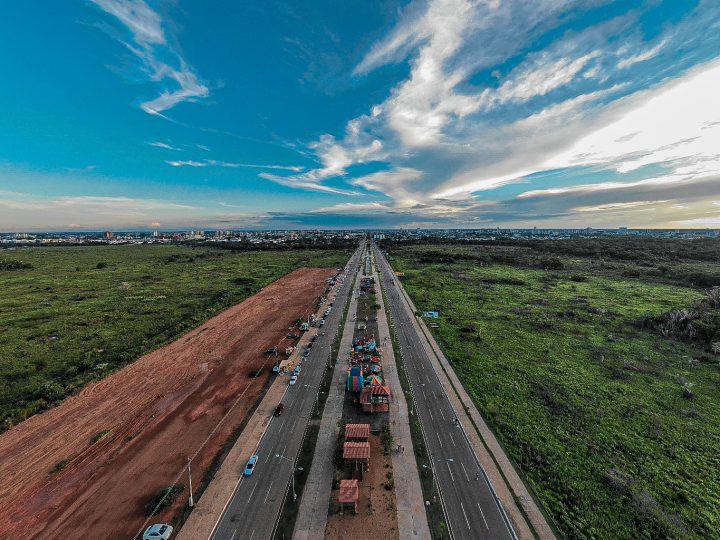
[[[149,498],[172,484],[245,391],[193,460],[197,489],[262,393],[272,365],[263,352],[313,307],[331,273],[295,270],[0,435],[0,537],[131,538]],[[267,369],[251,379],[262,365]],[[64,460],[62,470],[51,472]],[[181,496],[153,521],[171,519],[186,503],[187,475],[179,483]]]

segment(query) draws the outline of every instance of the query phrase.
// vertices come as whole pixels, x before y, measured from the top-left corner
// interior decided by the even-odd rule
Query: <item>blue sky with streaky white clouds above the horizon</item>
[[[4,6],[0,230],[720,226],[720,3]]]

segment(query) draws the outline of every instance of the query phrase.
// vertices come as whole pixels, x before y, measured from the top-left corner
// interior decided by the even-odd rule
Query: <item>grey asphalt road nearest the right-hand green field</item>
[[[423,346],[425,336],[400,292],[402,285],[379,249],[373,248],[451,536],[511,539],[499,502],[462,428],[455,424],[455,411]]]

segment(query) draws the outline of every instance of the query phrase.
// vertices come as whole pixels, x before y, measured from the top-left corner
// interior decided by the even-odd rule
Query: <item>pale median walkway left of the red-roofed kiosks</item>
[[[352,272],[348,273],[347,279],[353,279],[355,274],[358,273],[354,271],[356,269],[352,270]],[[325,526],[327,525],[335,471],[333,459],[340,432],[338,422],[342,417],[345,381],[347,379],[347,362],[344,355],[352,346],[359,289],[360,277],[358,276],[351,292],[350,306],[348,307],[347,319],[340,339],[340,348],[338,349],[338,359],[335,363],[325,409],[323,409],[323,416],[320,421],[320,432],[315,444],[310,473],[300,499],[300,508],[295,521],[295,530],[293,531],[294,540],[322,540],[325,538]]]

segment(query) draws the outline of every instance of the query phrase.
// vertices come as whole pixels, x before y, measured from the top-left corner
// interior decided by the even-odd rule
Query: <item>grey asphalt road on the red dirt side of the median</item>
[[[302,364],[297,383],[289,386],[285,393],[283,414],[273,417],[255,450],[259,456],[255,471],[238,484],[212,538],[272,538],[287,490],[292,489],[290,480],[295,470],[295,459],[315,406],[323,370],[329,363],[330,348],[345,311],[348,293],[360,263],[360,253],[358,249],[346,265],[345,281],[337,292],[325,326],[319,329],[310,356]],[[290,379],[287,376],[284,378],[286,381]]]

